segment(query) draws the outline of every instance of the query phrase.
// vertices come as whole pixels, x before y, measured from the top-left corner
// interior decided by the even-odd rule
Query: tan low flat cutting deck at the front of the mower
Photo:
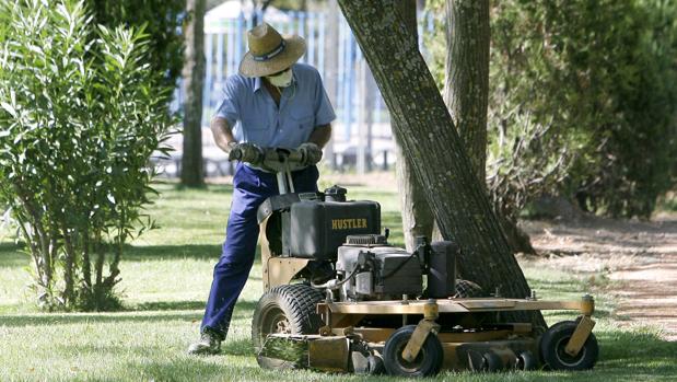
[[[536,299],[439,299],[439,300],[392,300],[361,302],[320,302],[317,313],[325,326],[318,335],[272,334],[269,336],[259,357],[287,358],[275,348],[302,349],[287,358],[297,367],[325,371],[370,372],[366,358],[350,351],[351,343],[361,343],[369,351],[384,354],[385,343],[400,332],[394,327],[355,326],[364,317],[372,315],[422,316],[410,336],[400,345],[400,362],[413,362],[429,335],[434,334],[441,344],[443,370],[499,370],[533,369],[540,362],[534,355],[539,354],[540,332],[529,323],[483,323],[481,327],[454,327],[441,331],[437,323],[440,314],[459,315],[487,312],[573,310],[580,316],[575,329],[564,343],[562,351],[575,357],[592,333],[594,321],[594,300],[590,296],[579,301],[540,301]],[[287,345],[281,345],[287,344]],[[292,344],[292,345],[290,345]],[[273,350],[271,350],[271,348]],[[488,355],[491,355],[488,359]],[[565,357],[565,356],[564,356]]]

